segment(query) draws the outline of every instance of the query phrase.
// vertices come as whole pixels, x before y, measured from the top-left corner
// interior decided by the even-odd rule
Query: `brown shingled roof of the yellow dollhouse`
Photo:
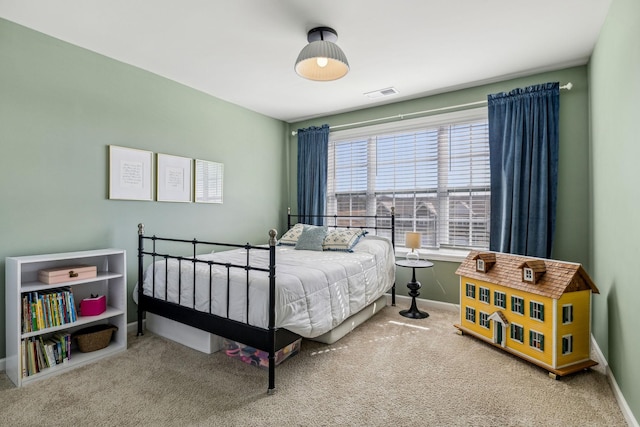
[[[479,258],[480,253],[493,253],[496,257],[496,263],[486,273],[476,271],[475,260]],[[545,273],[535,284],[523,282],[523,265]],[[588,289],[593,293],[600,293],[581,264],[501,252],[471,251],[456,270],[456,274],[553,299],[559,299],[566,292]]]

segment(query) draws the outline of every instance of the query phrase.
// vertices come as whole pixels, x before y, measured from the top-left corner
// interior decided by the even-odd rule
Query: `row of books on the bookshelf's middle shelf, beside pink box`
[[[41,331],[78,320],[71,288],[22,295],[22,333]]]

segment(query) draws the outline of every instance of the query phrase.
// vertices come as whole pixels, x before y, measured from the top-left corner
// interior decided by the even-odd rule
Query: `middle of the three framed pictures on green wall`
[[[192,161],[158,153],[159,202],[191,202]]]

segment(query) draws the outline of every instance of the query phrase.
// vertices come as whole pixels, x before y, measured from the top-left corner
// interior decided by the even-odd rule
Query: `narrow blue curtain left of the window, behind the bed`
[[[298,218],[306,224],[323,225],[327,200],[329,125],[298,129]]]

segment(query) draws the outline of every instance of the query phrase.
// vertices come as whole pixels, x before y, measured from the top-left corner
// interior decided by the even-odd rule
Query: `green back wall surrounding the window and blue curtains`
[[[380,117],[451,107],[487,99],[491,93],[510,91],[537,83],[558,81],[573,83],[571,91],[560,92],[560,154],[558,177],[558,210],[553,257],[582,263],[589,269],[589,110],[587,67],[573,67],[529,77],[506,80],[470,89],[448,92],[411,101],[373,107],[350,113],[293,123],[290,130],[328,123],[330,126],[355,123]],[[289,164],[289,199],[296,206],[297,137],[289,132],[291,162]],[[420,297],[458,304],[460,292],[455,271],[458,263],[435,261],[434,268],[417,270],[422,283]],[[398,294],[407,295],[404,286],[410,270],[399,268],[396,275]]]

